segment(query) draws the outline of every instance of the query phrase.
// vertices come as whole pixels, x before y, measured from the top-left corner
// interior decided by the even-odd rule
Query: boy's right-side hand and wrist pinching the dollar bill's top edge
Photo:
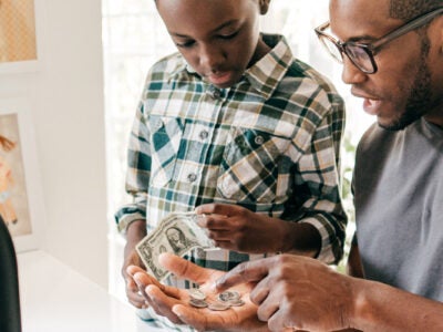
[[[293,222],[255,214],[236,205],[206,204],[195,209],[198,226],[206,228],[215,246],[248,253],[290,249]],[[292,225],[291,225],[292,224]]]

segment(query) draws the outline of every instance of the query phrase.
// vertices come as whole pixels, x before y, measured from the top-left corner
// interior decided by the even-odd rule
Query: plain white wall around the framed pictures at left
[[[45,210],[41,248],[107,286],[100,0],[35,0],[37,71],[0,73],[0,98],[25,98]],[[48,271],[50,278],[51,271]]]

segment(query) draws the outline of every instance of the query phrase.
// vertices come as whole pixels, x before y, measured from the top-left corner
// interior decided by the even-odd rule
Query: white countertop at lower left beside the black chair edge
[[[23,332],[161,331],[44,251],[19,253],[18,266]]]

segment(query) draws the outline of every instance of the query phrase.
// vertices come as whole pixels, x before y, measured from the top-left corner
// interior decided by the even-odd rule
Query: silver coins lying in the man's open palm
[[[237,291],[226,291],[219,293],[217,300],[206,301],[206,294],[197,288],[188,290],[189,304],[195,308],[208,308],[213,311],[227,310],[230,307],[240,307],[245,304],[245,301],[240,299],[240,294]]]

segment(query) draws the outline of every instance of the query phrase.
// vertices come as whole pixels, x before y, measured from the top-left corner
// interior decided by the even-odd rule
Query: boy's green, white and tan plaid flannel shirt
[[[234,204],[313,225],[322,239],[318,258],[341,258],[342,98],[282,37],[262,37],[271,51],[229,89],[203,81],[178,53],[152,68],[128,146],[134,200],[115,215],[122,232],[137,219],[150,232],[171,212]],[[195,250],[189,259],[229,270],[264,256]]]

